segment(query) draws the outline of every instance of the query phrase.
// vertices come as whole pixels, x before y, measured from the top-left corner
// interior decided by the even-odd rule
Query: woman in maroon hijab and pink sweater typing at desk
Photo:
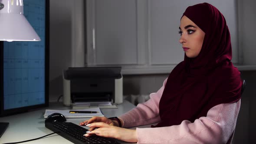
[[[213,143],[232,140],[240,109],[242,80],[233,66],[230,32],[209,3],[187,7],[180,24],[185,56],[150,99],[119,118],[80,123],[96,134],[138,143]],[[151,128],[126,129],[153,124]],[[97,129],[95,129],[97,128]]]

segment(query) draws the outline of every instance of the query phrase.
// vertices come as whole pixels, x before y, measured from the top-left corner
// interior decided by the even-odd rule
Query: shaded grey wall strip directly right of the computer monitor
[[[49,101],[62,94],[62,70],[72,64],[70,0],[50,0]]]

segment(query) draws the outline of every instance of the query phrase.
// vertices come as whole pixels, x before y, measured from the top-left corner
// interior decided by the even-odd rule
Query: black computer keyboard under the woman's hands
[[[97,135],[85,137],[83,135],[86,134],[88,130],[71,122],[46,122],[45,127],[53,132],[57,132],[57,134],[75,144],[120,144],[117,140],[112,138]]]

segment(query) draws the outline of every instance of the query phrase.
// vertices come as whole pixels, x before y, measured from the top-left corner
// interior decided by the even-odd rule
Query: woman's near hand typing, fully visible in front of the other
[[[137,142],[137,133],[136,130],[131,130],[127,128],[119,128],[113,125],[106,124],[104,122],[95,122],[90,125],[87,125],[90,128],[97,128],[91,132],[85,134],[85,137],[89,137],[92,134],[96,134],[101,137],[111,137],[121,141],[126,142]]]

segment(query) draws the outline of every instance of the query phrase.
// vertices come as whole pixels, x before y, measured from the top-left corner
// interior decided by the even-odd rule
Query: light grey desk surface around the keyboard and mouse
[[[10,122],[9,127],[4,132],[0,138],[0,144],[26,141],[34,139],[37,137],[42,137],[46,134],[50,134],[53,131],[45,128],[44,125],[44,112],[45,109],[69,109],[70,107],[64,107],[61,103],[50,103],[48,108],[40,108],[35,111],[29,111],[22,114],[11,115],[7,117],[1,117],[0,122]],[[124,114],[125,112],[135,108],[135,105],[132,105],[128,101],[124,101],[121,105],[118,105],[118,108],[112,109],[101,109],[102,113],[106,117],[114,117]],[[88,118],[67,118],[67,122],[72,122],[78,124],[81,121],[84,121]],[[89,127],[85,127],[89,129]],[[72,142],[66,140],[65,138],[59,136],[58,134],[53,134],[48,137],[36,140],[29,141],[26,144],[72,144]],[[24,143],[25,144],[25,143]]]

